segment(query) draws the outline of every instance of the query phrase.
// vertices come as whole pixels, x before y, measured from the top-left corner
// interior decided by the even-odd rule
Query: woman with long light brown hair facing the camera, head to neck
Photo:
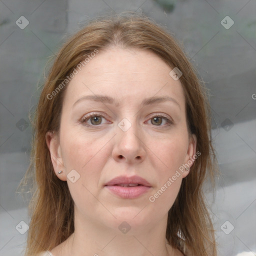
[[[92,20],[60,49],[37,105],[25,256],[216,255],[209,116],[162,27],[134,13]]]

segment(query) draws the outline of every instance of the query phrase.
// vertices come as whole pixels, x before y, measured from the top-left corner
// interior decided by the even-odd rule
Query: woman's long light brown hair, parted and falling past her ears
[[[147,49],[156,53],[169,66],[182,71],[179,78],[186,101],[189,132],[197,138],[194,161],[179,193],[168,211],[166,239],[185,254],[215,256],[214,230],[206,208],[202,185],[217,173],[216,157],[210,135],[210,108],[206,90],[185,50],[169,32],[143,14],[100,16],[75,33],[60,49],[43,85],[34,116],[34,138],[31,163],[20,184],[32,177],[33,190],[29,203],[29,224],[25,256],[50,250],[74,231],[73,200],[67,183],[54,173],[45,141],[47,131],[58,132],[64,86],[52,99],[47,95],[64,81],[76,65],[97,49],[111,45]]]

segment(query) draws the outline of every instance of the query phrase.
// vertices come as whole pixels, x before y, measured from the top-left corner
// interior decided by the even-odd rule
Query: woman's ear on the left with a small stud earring
[[[50,152],[50,158],[54,168],[54,172],[59,179],[65,181],[66,171],[63,164],[58,136],[55,132],[47,131],[45,134],[45,140]],[[58,173],[58,171],[60,170],[62,170],[62,172]]]

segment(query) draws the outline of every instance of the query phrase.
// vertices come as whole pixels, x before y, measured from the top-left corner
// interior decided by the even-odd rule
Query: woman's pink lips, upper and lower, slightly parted
[[[104,187],[118,197],[133,199],[148,192],[151,189],[151,184],[139,176],[118,176],[108,181]]]

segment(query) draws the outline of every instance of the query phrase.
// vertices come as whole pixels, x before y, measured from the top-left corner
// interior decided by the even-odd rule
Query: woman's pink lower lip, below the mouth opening
[[[141,194],[147,192],[150,187],[149,186],[105,186],[114,194],[119,195],[122,198],[131,199],[140,196]]]

